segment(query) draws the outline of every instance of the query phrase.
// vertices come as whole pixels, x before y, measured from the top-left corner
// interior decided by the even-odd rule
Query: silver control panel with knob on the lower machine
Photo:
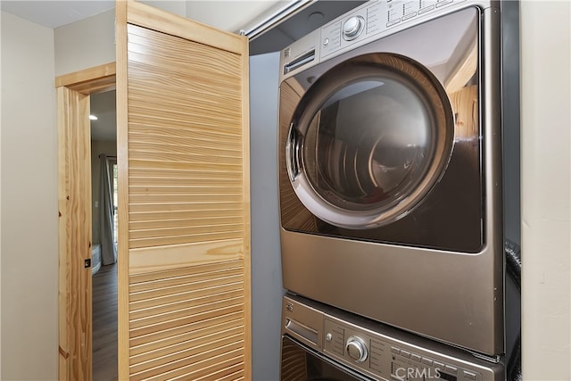
[[[503,365],[418,335],[337,310],[297,295],[286,295],[282,335],[289,335],[341,366],[391,381],[496,381]],[[311,321],[302,321],[311,316]],[[321,319],[318,319],[318,316]],[[307,327],[312,339],[302,330]],[[316,337],[321,338],[316,339]]]

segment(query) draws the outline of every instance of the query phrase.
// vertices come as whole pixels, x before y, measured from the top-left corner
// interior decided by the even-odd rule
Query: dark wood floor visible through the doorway
[[[93,380],[117,380],[117,263],[93,276]]]

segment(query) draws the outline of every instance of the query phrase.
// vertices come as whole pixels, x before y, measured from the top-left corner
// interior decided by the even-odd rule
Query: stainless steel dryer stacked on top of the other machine
[[[284,286],[504,352],[500,7],[362,4],[281,54]]]

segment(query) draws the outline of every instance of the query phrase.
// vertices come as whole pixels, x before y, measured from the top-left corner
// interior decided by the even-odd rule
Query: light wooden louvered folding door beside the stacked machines
[[[119,378],[251,378],[248,42],[118,2]]]

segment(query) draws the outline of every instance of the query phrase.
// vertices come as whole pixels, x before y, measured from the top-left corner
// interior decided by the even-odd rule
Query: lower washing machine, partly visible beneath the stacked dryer
[[[285,295],[281,381],[496,381],[504,367],[300,296]]]

